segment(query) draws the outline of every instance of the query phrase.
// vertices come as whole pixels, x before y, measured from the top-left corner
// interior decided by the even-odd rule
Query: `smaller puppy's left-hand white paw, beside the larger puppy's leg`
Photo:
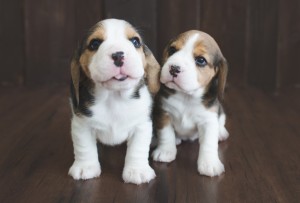
[[[176,147],[158,147],[152,152],[153,160],[161,162],[171,162],[176,158]]]

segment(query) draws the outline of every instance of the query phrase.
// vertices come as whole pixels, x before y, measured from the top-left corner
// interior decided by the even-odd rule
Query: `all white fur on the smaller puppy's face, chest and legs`
[[[156,161],[173,161],[179,139],[199,138],[198,171],[203,175],[217,176],[224,172],[218,155],[218,141],[226,139],[228,132],[224,127],[225,115],[218,118],[217,113],[201,103],[205,87],[201,87],[197,81],[197,67],[192,55],[194,43],[199,38],[199,34],[191,36],[162,68],[161,82],[177,92],[162,100],[162,108],[169,114],[171,123],[158,132],[159,144],[152,156]],[[169,73],[170,65],[181,67],[181,72],[175,78]]]

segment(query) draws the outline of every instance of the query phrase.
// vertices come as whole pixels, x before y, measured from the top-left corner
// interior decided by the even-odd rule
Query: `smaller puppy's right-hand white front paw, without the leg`
[[[201,175],[219,176],[225,169],[218,157],[202,156],[198,159],[198,171]]]

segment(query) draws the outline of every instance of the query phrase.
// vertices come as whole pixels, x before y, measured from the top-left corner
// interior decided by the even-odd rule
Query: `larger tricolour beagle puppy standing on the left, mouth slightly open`
[[[148,154],[153,97],[160,66],[136,29],[124,20],[93,26],[71,62],[71,134],[74,179],[101,174],[97,141],[127,142],[123,180],[141,184],[155,177]]]

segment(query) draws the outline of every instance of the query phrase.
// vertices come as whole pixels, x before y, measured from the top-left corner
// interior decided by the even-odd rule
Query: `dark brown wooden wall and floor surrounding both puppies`
[[[172,163],[149,159],[149,184],[123,182],[125,143],[98,145],[100,178],[67,175],[70,58],[110,17],[137,26],[158,59],[189,29],[219,43],[230,64],[225,174],[200,176],[199,144],[187,141]],[[299,0],[0,0],[0,202],[298,203],[299,19]]]

